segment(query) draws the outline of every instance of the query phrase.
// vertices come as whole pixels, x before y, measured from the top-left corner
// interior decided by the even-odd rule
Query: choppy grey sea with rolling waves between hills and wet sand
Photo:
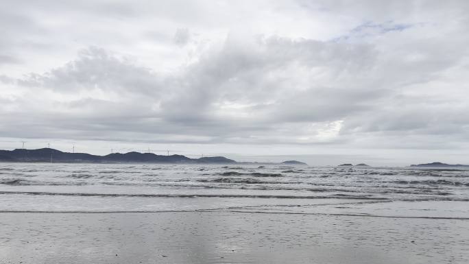
[[[468,169],[0,163],[0,211],[468,218]]]

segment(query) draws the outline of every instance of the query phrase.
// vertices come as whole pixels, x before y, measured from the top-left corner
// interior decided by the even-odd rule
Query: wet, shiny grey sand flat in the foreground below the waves
[[[469,221],[284,213],[1,213],[0,263],[468,263]]]

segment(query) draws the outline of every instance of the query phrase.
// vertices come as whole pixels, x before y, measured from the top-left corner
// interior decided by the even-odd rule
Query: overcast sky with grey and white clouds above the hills
[[[0,149],[469,164],[468,43],[464,0],[0,0]]]

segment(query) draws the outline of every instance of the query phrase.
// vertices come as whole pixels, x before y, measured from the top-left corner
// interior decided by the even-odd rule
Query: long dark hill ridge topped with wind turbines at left
[[[236,163],[225,157],[188,158],[182,155],[156,155],[153,153],[112,153],[97,156],[87,153],[61,152],[57,149],[14,149],[0,150],[0,161],[16,162],[56,162],[56,163]]]

